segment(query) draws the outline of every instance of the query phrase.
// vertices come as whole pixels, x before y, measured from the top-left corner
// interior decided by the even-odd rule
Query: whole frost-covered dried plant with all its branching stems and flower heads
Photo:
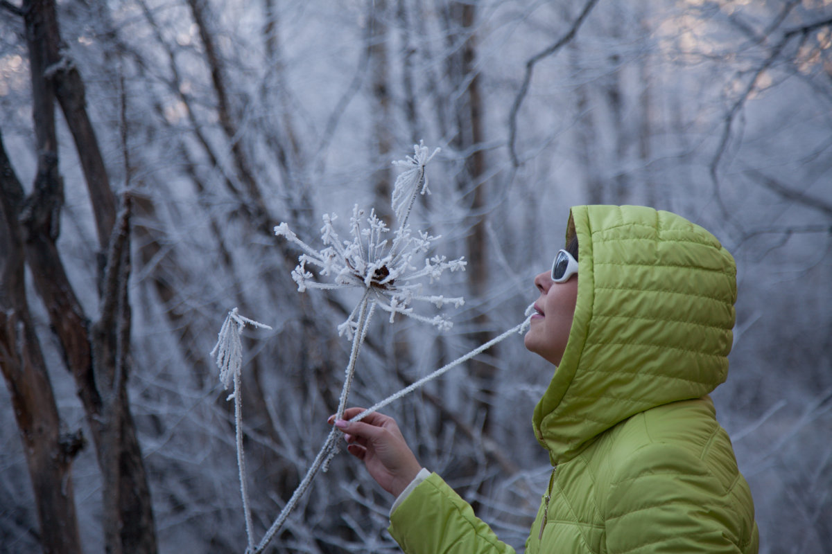
[[[353,208],[352,217],[349,219],[349,239],[342,239],[336,230],[335,222],[337,216],[334,214],[324,215],[324,226],[320,229],[321,243],[323,248],[315,249],[308,243],[300,240],[286,223],[280,223],[275,227],[275,235],[284,237],[290,243],[298,245],[302,251],[298,257],[298,265],[292,272],[292,278],[298,285],[299,292],[308,289],[351,289],[361,292],[360,300],[351,311],[347,319],[338,326],[339,335],[346,336],[352,341],[352,348],[349,355],[349,362],[344,372],[344,385],[339,397],[339,405],[336,411],[336,418],[342,419],[346,408],[349,390],[355,371],[356,361],[364,338],[369,329],[371,320],[376,308],[389,313],[389,321],[394,322],[396,314],[414,318],[437,326],[439,330],[447,330],[451,322],[444,316],[424,316],[414,311],[414,302],[427,302],[441,308],[445,304],[462,306],[461,297],[443,297],[431,295],[424,292],[425,281],[432,284],[444,272],[463,271],[466,262],[462,257],[448,260],[440,255],[430,256],[434,243],[439,237],[433,237],[429,233],[414,231],[408,223],[410,214],[413,211],[414,203],[418,194],[429,194],[428,179],[425,168],[428,161],[438,152],[428,154],[428,148],[423,144],[414,146],[414,155],[406,159],[394,162],[395,165],[403,168],[401,174],[394,184],[391,204],[394,209],[398,226],[390,235],[387,224],[376,216],[374,209],[369,212],[360,209],[357,205]],[[529,313],[527,313],[527,316]],[[234,325],[236,323],[236,326]],[[226,388],[233,380],[235,390],[229,396],[235,398],[235,408],[240,405],[239,374],[242,360],[239,332],[245,323],[260,325],[237,314],[236,309],[230,312],[223,324],[223,331],[220,331],[220,341],[215,347],[219,351],[217,365],[220,366],[220,379],[223,380]],[[445,371],[469,360],[474,355],[486,350],[493,344],[503,341],[516,331],[522,331],[527,326],[528,319],[519,326],[510,329],[492,341],[478,347],[477,349],[463,355],[458,360],[443,366],[433,374],[418,380],[404,390],[399,391],[388,399],[375,404],[371,409],[359,414],[354,420],[362,419],[367,414],[389,404],[395,399],[409,393],[418,386]],[[225,333],[225,335],[224,335]],[[236,333],[236,335],[235,335]],[[224,338],[225,336],[225,338]],[[212,352],[213,355],[213,352]],[[229,378],[228,375],[232,375]],[[281,510],[280,515],[272,523],[269,530],[260,543],[255,547],[251,535],[251,516],[248,507],[248,495],[245,488],[245,460],[242,456],[242,444],[240,434],[240,411],[236,409],[237,419],[237,453],[238,465],[240,466],[240,491],[243,495],[245,510],[245,525],[248,534],[247,554],[259,554],[275,536],[275,533],[283,526],[290,512],[292,512],[298,500],[310,487],[310,483],[320,469],[327,468],[329,460],[336,451],[339,431],[332,429],[324,442],[323,447],[314,459],[314,462],[307,471],[305,477],[295,489],[289,502]]]

